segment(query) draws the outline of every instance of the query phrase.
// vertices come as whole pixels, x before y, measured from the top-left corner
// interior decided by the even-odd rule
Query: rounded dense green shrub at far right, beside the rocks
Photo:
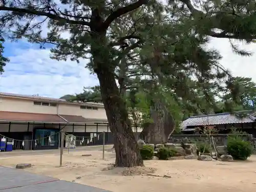
[[[227,152],[233,159],[246,160],[252,154],[252,146],[240,137],[228,137]]]

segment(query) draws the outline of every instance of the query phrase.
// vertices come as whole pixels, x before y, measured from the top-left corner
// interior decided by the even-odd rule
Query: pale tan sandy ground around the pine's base
[[[82,154],[92,156],[81,156]],[[144,161],[145,168],[136,167],[129,170],[111,168],[114,161],[115,154],[112,152],[105,152],[105,160],[102,160],[102,151],[64,154],[63,167],[58,167],[57,154],[3,158],[0,156],[2,166],[14,167],[17,163],[31,163],[33,166],[25,171],[113,192],[248,192],[256,189],[256,156],[245,162],[147,160]],[[137,175],[138,173],[144,174]]]

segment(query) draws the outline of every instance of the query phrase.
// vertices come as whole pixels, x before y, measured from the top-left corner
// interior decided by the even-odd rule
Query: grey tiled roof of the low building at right
[[[202,126],[202,125],[217,125],[217,124],[234,124],[234,123],[251,123],[255,121],[255,117],[251,115],[246,115],[246,117],[239,118],[234,114],[230,113],[220,113],[220,114],[210,114],[192,116],[182,121],[181,129],[186,129],[187,126]],[[209,123],[208,123],[209,121]],[[188,131],[188,129],[186,129]]]

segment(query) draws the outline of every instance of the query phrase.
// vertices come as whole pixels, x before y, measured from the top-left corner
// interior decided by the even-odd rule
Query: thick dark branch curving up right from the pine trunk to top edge
[[[126,7],[122,7],[122,8],[117,9],[111,15],[109,15],[108,18],[106,18],[105,22],[103,23],[103,28],[108,29],[109,26],[111,25],[111,23],[113,22],[113,20],[115,20],[116,18],[120,17],[123,14],[126,14],[130,11],[133,11],[133,10],[139,8],[142,5],[146,5],[147,3],[148,3],[148,0],[139,0],[136,3],[133,3],[133,4],[128,5]]]

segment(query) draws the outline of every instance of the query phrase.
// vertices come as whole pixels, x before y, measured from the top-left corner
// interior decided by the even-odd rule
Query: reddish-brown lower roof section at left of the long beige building
[[[57,115],[41,113],[20,113],[0,111],[0,121],[24,121],[24,122],[51,122],[66,123],[66,121]]]

